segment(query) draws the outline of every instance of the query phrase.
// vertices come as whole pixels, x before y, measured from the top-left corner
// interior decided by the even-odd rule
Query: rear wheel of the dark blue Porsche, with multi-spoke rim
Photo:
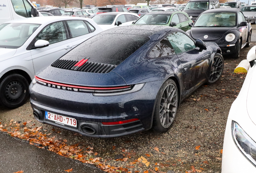
[[[171,91],[171,92],[170,92]],[[163,133],[170,129],[178,109],[178,89],[172,79],[166,80],[157,94],[153,129]]]

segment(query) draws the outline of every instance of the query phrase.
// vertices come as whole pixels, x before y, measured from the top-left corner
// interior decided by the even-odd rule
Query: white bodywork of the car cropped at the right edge
[[[254,51],[255,53],[255,51]],[[250,67],[242,89],[229,111],[222,155],[222,173],[253,173],[256,167],[238,149],[232,137],[231,122],[239,126],[256,141],[256,65]]]

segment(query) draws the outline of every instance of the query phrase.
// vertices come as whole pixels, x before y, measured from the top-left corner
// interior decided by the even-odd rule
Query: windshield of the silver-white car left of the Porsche
[[[11,23],[0,25],[0,47],[19,48],[35,32],[39,24]]]

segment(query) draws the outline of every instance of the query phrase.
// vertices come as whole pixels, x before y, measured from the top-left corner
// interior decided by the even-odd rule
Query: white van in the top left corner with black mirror
[[[43,16],[30,0],[0,0],[0,24],[9,20]]]

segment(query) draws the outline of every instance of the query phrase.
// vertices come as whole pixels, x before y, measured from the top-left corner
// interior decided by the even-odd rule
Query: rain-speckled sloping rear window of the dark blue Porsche
[[[150,40],[132,34],[98,34],[64,55],[61,59],[90,58],[90,62],[119,65]]]

